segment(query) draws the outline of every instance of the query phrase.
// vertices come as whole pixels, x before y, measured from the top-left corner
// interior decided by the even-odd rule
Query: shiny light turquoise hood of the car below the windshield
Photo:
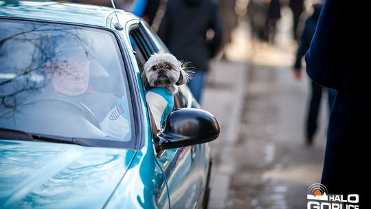
[[[102,208],[135,151],[0,140],[0,208]]]

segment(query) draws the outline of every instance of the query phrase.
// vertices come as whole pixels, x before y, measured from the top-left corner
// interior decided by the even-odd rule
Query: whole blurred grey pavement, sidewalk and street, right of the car
[[[305,73],[300,81],[291,74],[295,45],[288,27],[281,25],[276,45],[267,45],[249,41],[241,21],[228,61],[211,63],[201,105],[216,116],[221,135],[210,142],[209,208],[306,208],[306,190],[320,181],[327,104],[322,102],[315,143],[308,147],[309,83]]]

